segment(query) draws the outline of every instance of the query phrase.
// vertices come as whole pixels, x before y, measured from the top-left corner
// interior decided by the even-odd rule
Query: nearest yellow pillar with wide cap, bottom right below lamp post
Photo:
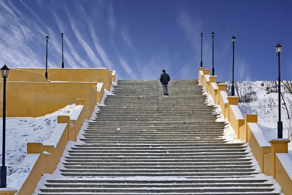
[[[276,179],[276,153],[288,153],[288,143],[290,142],[289,139],[274,139],[270,140],[269,143],[271,143],[272,150],[272,173],[273,177]]]

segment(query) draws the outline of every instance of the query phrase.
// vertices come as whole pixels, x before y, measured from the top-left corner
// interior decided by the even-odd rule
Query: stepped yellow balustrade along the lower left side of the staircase
[[[82,106],[84,104],[84,99],[76,99],[76,105]],[[76,106],[76,107],[77,107]],[[75,107],[75,108],[76,108]],[[39,181],[42,174],[48,173],[53,174],[57,164],[60,162],[60,158],[63,155],[64,149],[68,141],[75,141],[80,128],[87,118],[88,110],[85,106],[82,109],[77,109],[76,120],[71,120],[70,116],[58,116],[58,124],[64,124],[65,127],[62,129],[63,133],[58,140],[56,146],[54,145],[44,145],[43,143],[28,143],[27,144],[27,154],[40,154],[35,165],[33,166],[29,176],[22,184],[18,195],[32,195],[37,187],[37,182]],[[73,108],[73,112],[74,109]],[[90,113],[91,115],[92,113]],[[72,125],[73,124],[73,125]],[[54,133],[54,132],[53,132]],[[46,154],[47,151],[51,154]],[[1,194],[0,192],[0,195]],[[11,194],[14,195],[14,194]]]

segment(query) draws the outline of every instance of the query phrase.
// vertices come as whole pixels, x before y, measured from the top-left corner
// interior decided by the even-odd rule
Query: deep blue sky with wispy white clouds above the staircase
[[[0,64],[106,67],[119,79],[197,79],[201,61],[218,81],[292,80],[291,0],[0,0]],[[2,66],[1,65],[1,66]]]

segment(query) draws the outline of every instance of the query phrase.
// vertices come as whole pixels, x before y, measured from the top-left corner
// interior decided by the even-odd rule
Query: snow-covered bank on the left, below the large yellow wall
[[[49,140],[57,124],[57,116],[70,115],[75,104],[65,106],[42,117],[6,117],[6,158],[7,180],[18,171],[26,156],[28,142],[44,142]],[[0,142],[2,146],[3,118],[0,117]],[[2,147],[0,151],[2,162]]]

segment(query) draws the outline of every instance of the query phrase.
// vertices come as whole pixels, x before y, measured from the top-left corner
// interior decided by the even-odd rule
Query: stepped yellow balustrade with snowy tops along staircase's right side
[[[210,82],[206,82],[202,72],[204,74],[209,74],[209,69],[199,68],[198,79],[201,86],[204,86],[205,90],[212,95],[215,104],[220,105],[224,118],[229,119],[230,124],[237,133],[237,139],[246,140],[246,142],[249,143],[262,173],[273,176],[282,187],[285,195],[292,195],[292,178],[290,177],[292,171],[290,167],[288,167],[289,170],[287,170],[287,164],[285,165],[285,169],[278,157],[280,154],[287,154],[288,156],[286,156],[287,159],[285,159],[285,163],[287,163],[288,160],[289,163],[292,164],[292,159],[288,154],[288,142],[290,141],[288,139],[275,139],[269,141],[271,143],[270,145],[265,140],[264,135],[258,127],[257,115],[246,114],[245,119],[240,119],[241,117],[238,118],[238,116],[236,117],[233,109],[235,108],[234,106],[237,106],[238,97],[227,97],[226,94],[224,95],[221,93],[222,91],[226,91],[226,84],[217,84],[218,89],[214,89],[210,84],[212,83],[211,79]],[[212,77],[210,76],[209,78]],[[222,94],[226,97],[222,97]],[[228,99],[228,103],[226,103],[226,100],[224,102],[224,98]],[[250,127],[251,125],[253,129]],[[287,171],[290,172],[290,175]]]

